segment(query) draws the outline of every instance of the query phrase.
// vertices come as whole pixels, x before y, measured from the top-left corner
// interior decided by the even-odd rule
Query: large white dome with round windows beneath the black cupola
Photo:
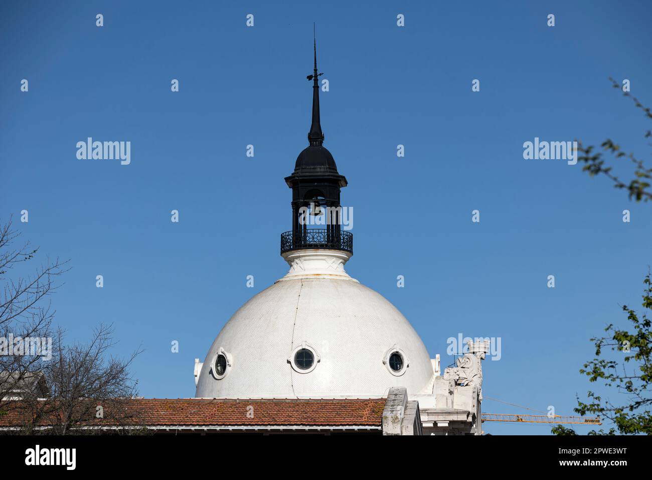
[[[196,397],[373,397],[390,387],[431,393],[434,374],[421,338],[390,302],[344,272],[349,256],[286,253],[288,275],[235,312],[211,345]],[[308,370],[292,361],[301,348],[314,353]],[[404,360],[399,372],[387,361],[394,352]],[[220,353],[228,361],[223,377],[213,372]]]

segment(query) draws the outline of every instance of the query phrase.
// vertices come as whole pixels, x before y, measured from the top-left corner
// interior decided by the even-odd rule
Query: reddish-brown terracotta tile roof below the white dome
[[[147,426],[381,426],[385,398],[231,400],[141,398],[121,409]],[[0,415],[0,426],[16,424],[18,413]],[[41,423],[44,424],[45,422]],[[111,424],[111,421],[98,421]]]

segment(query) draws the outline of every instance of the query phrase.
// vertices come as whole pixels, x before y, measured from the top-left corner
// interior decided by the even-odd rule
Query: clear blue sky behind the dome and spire
[[[649,121],[608,81],[628,78],[652,104],[648,2],[5,1],[0,13],[0,215],[14,214],[39,260],[70,259],[52,296],[68,340],[105,322],[117,355],[142,344],[144,396],[192,396],[194,358],[287,270],[283,177],[307,145],[312,22],[330,83],[325,146],[355,212],[347,270],[406,315],[433,357],[449,364],[459,333],[500,337],[485,396],[572,415],[576,393],[596,387],[578,373],[589,338],[625,325],[621,304],[640,306],[652,205],[580,164],[525,160],[522,144],[613,138],[649,161]],[[77,159],[88,136],[129,140],[131,164]]]

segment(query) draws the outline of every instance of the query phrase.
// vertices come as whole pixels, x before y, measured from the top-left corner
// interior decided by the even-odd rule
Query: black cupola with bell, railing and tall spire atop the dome
[[[317,72],[316,40],[314,56],[314,73],[306,77],[313,82],[309,145],[299,153],[294,172],[285,178],[292,189],[292,231],[281,235],[281,253],[313,248],[353,253],[353,234],[340,229],[340,189],[346,187],[346,177],[339,174],[333,155],[323,146],[324,134],[319,119],[319,76],[322,74]],[[320,214],[326,217],[325,229],[308,228],[308,217]]]

